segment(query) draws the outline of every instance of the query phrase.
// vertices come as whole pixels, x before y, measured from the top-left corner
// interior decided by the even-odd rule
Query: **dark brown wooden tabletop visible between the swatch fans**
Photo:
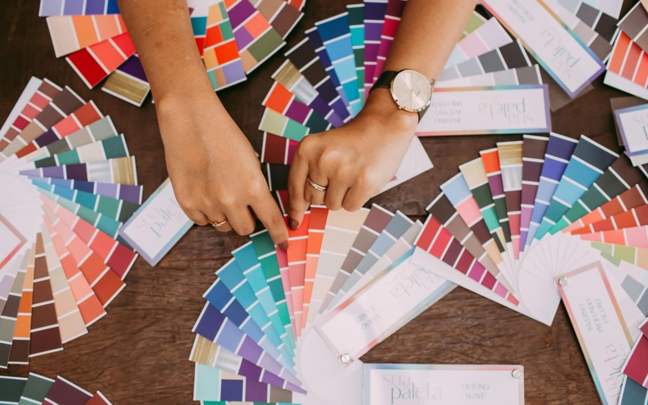
[[[167,178],[154,105],[136,108],[100,89],[89,90],[64,60],[54,58],[45,19],[38,17],[38,0],[0,2],[0,117],[6,117],[30,76],[69,85],[95,100],[126,135],[137,157],[145,196]],[[351,2],[350,2],[351,3]],[[344,10],[345,1],[308,0],[306,16],[289,37],[314,21]],[[432,46],[432,44],[431,44]],[[283,58],[271,58],[247,82],[219,93],[227,110],[260,145],[256,129],[260,102],[270,75]],[[178,78],[178,80],[182,80]],[[553,113],[555,132],[572,137],[586,134],[603,145],[614,145],[610,97],[623,95],[599,79],[590,91]],[[207,111],[205,111],[207,113]],[[478,151],[517,135],[437,137],[423,139],[435,168],[373,199],[390,210],[424,214],[439,185],[457,172],[457,165],[478,157]],[[189,157],[188,157],[189,158]],[[0,198],[9,198],[1,195]],[[246,241],[222,235],[211,227],[193,227],[156,268],[135,262],[126,289],[108,307],[108,316],[89,333],[65,345],[65,350],[35,358],[25,367],[0,374],[62,375],[89,390],[100,389],[115,405],[191,404],[193,364],[187,360],[200,313],[201,295],[229,252]],[[522,364],[526,369],[527,404],[596,404],[599,402],[583,354],[564,307],[552,327],[546,327],[491,301],[457,288],[418,318],[380,343],[365,362]]]

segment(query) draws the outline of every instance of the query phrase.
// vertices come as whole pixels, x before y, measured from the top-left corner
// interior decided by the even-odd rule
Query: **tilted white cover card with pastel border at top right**
[[[524,43],[570,97],[605,70],[594,52],[553,17],[541,0],[483,0],[481,4]]]

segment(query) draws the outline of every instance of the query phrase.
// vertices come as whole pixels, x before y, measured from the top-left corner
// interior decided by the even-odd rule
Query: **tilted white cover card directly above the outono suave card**
[[[359,358],[452,285],[410,255],[332,310],[319,330],[338,353]]]

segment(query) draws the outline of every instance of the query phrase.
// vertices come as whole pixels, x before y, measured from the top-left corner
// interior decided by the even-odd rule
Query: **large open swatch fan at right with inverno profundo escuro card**
[[[648,387],[648,178],[629,157],[524,135],[460,165],[427,210],[414,264],[546,325],[562,298],[603,403],[626,360]]]

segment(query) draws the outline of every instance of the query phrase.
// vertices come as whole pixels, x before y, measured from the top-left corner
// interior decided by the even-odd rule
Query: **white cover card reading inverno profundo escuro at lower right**
[[[603,266],[591,264],[557,283],[599,396],[604,404],[616,404],[632,341]]]

